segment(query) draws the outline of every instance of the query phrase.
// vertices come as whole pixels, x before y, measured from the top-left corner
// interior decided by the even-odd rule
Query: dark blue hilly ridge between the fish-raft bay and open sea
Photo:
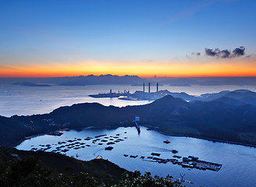
[[[142,125],[165,134],[256,146],[256,93],[236,90],[205,97],[212,100],[186,102],[168,95],[139,106],[85,103],[57,108],[45,115],[0,116],[0,144],[16,146],[28,136],[59,129],[133,126],[132,120],[139,116]]]

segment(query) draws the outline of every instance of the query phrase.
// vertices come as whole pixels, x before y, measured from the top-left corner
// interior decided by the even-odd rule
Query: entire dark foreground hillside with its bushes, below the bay
[[[12,186],[184,186],[171,176],[126,171],[102,159],[79,161],[59,153],[0,146],[0,185]],[[123,175],[125,174],[125,175]]]

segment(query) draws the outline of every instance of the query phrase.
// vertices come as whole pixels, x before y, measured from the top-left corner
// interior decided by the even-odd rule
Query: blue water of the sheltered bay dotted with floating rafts
[[[142,172],[150,171],[153,175],[172,175],[175,178],[185,174],[185,179],[194,183],[192,186],[254,186],[256,183],[255,148],[213,143],[204,139],[165,136],[156,131],[148,131],[145,127],[141,130],[140,135],[135,128],[85,129],[81,132],[70,130],[63,132],[62,136],[45,135],[27,139],[16,148],[44,149],[66,153],[70,157],[77,157],[78,154],[78,159],[83,161],[89,161],[101,155],[104,159],[129,171],[137,169]],[[163,143],[166,139],[170,139],[171,143]],[[110,142],[114,143],[111,144],[114,149],[105,150]],[[175,155],[171,153],[173,149],[178,150],[176,155],[182,157],[193,155],[200,157],[203,161],[222,164],[222,168],[218,172],[202,171],[182,168],[171,163],[158,164],[142,161],[140,158],[149,157],[153,152],[160,153],[160,157],[164,159],[173,158]],[[138,157],[124,157],[124,154],[138,155]]]

